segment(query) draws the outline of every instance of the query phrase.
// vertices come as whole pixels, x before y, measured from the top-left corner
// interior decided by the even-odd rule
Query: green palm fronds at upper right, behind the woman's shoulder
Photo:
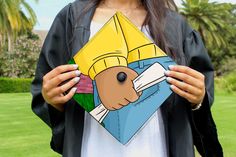
[[[225,47],[225,34],[229,33],[226,19],[231,15],[232,5],[209,2],[209,0],[183,0],[180,13],[197,30],[207,46]]]

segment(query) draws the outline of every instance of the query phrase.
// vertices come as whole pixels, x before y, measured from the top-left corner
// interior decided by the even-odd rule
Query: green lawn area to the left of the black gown
[[[0,156],[58,157],[50,129],[31,111],[29,93],[0,94]]]

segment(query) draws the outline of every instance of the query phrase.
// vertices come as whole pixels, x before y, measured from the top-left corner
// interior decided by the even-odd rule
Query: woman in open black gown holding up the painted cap
[[[172,0],[80,0],[57,15],[32,83],[32,108],[52,128],[53,150],[68,157],[191,157],[195,143],[202,156],[223,156],[210,113],[213,68],[200,36],[171,11],[175,8]],[[76,65],[67,65],[116,11],[125,14],[137,27],[147,26],[142,31],[179,64],[166,72],[175,94],[127,145],[112,139],[71,99],[80,72]],[[128,79],[137,76],[128,68],[120,68],[108,73],[126,72]],[[106,73],[101,72],[95,80],[101,82],[104,78]],[[118,94],[127,101],[118,99],[107,108],[120,108],[139,98],[135,91]]]

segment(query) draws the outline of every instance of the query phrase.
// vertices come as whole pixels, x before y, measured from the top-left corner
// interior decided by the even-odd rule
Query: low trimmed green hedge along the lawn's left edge
[[[30,92],[32,79],[0,77],[0,93]]]

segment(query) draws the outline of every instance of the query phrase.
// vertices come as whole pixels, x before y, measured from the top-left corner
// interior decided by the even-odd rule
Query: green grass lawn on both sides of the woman
[[[29,93],[0,94],[0,157],[58,157],[50,129],[31,111]],[[236,95],[217,94],[212,108],[225,157],[236,156]]]

